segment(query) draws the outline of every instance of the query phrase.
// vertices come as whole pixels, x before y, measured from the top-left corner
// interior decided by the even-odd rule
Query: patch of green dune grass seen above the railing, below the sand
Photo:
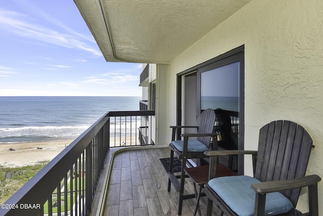
[[[4,203],[36,173],[42,169],[48,161],[42,161],[36,165],[8,168],[0,166],[0,203]],[[12,178],[5,180],[6,173],[12,174]]]

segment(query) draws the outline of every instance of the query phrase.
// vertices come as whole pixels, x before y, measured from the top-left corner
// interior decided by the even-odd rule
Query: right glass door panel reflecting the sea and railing
[[[244,135],[244,55],[214,61],[197,70],[197,106],[202,112],[216,112],[215,130],[219,149],[243,149]],[[229,165],[242,173],[243,159],[229,158]]]

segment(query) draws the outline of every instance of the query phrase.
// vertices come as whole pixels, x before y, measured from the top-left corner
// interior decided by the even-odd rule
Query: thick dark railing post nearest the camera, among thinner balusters
[[[92,145],[93,140],[85,150],[85,215],[90,213],[92,204]]]

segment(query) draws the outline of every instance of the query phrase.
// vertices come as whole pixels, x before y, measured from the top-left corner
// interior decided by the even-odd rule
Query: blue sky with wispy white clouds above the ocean
[[[72,0],[0,1],[0,96],[141,96],[141,71],[104,60]]]

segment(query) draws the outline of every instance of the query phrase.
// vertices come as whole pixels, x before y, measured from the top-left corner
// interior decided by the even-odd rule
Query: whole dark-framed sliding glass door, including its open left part
[[[219,148],[244,149],[244,46],[178,73],[177,87],[178,125],[186,124],[187,116],[198,122],[200,113],[211,108],[216,112]],[[243,174],[243,156],[231,163]]]

